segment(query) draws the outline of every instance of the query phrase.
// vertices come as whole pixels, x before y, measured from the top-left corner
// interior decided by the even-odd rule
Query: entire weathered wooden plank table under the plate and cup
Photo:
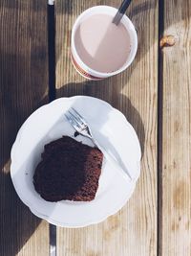
[[[191,255],[191,1],[133,1],[127,14],[138,31],[135,61],[116,77],[85,81],[71,63],[71,30],[80,12],[100,4],[120,1],[55,0],[50,15],[46,0],[0,1],[1,256]],[[52,28],[55,21],[54,41],[48,21]],[[159,47],[163,35],[173,35],[175,45]],[[141,144],[141,175],[133,197],[107,221],[55,228],[17,197],[10,151],[33,110],[74,95],[103,99],[125,114]]]

